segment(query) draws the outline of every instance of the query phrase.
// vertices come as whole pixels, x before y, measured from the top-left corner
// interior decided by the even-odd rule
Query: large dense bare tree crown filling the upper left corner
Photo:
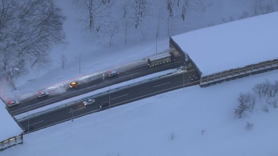
[[[49,49],[62,44],[65,17],[51,0],[0,3],[0,73],[8,80],[30,67],[47,68]]]

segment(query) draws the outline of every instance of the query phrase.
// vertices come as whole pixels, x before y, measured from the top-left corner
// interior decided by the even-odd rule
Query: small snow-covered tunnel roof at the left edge
[[[5,109],[5,106],[6,104],[0,99],[0,141],[4,141],[13,136],[18,136],[22,133],[22,129]]]

